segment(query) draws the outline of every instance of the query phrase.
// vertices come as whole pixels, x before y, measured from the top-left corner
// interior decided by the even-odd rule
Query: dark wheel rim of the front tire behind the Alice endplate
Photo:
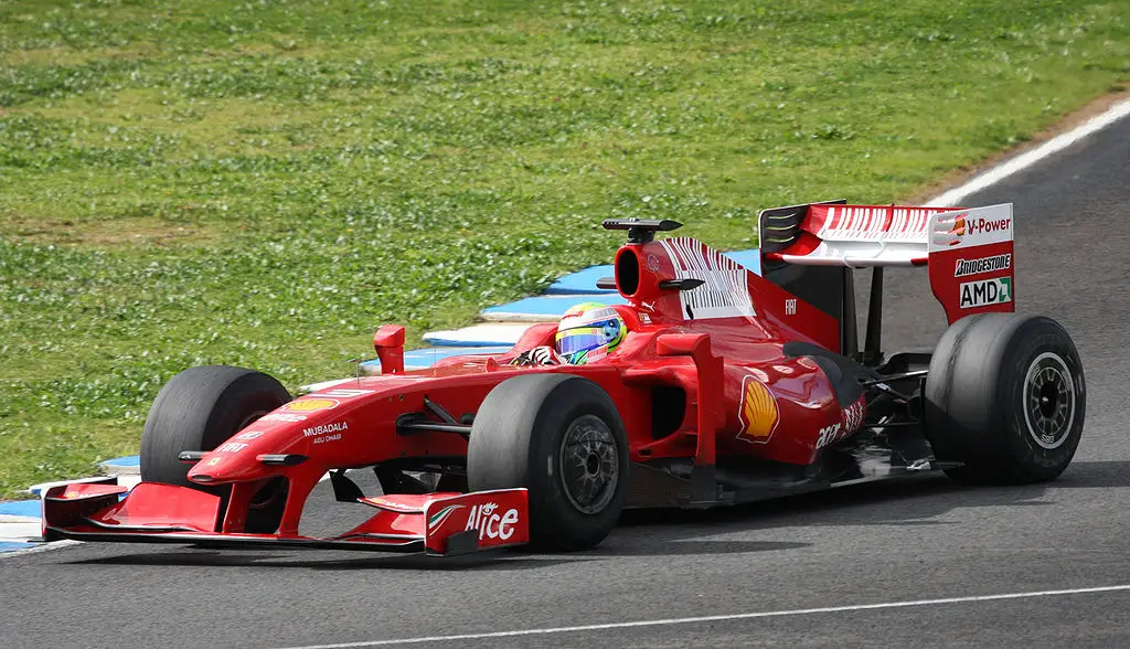
[[[603,511],[616,494],[619,453],[608,424],[596,415],[577,417],[562,438],[562,486],[581,513]]]

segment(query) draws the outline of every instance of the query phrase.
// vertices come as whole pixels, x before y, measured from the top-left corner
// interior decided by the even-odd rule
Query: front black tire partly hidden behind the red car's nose
[[[290,400],[273,378],[226,365],[191,367],[157,393],[141,434],[141,479],[212,492],[189,482],[181,451],[210,451]]]

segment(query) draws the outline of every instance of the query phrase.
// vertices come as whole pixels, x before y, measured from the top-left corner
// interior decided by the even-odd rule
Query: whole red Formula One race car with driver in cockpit
[[[381,327],[381,375],[290,398],[251,370],[194,367],[158,395],[142,482],[44,494],[44,536],[446,555],[600,543],[624,508],[709,508],[944,470],[966,482],[1058,476],[1083,431],[1079,356],[1054,321],[1014,310],[1012,207],[765,210],[762,271],[671,220],[611,219],[612,306],[626,334],[584,364],[506,354],[406,372]],[[880,349],[885,267],[923,267],[950,327],[935,352]],[[871,268],[859,348],[854,272]],[[381,495],[346,469],[373,467]],[[299,534],[314,486],[372,518]]]

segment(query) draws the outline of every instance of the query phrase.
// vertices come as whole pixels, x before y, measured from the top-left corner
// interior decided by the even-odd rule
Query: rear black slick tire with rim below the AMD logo
[[[1070,464],[1086,414],[1083,364],[1054,320],[984,313],[955,322],[930,361],[923,395],[935,456],[973,484],[1054,479]]]

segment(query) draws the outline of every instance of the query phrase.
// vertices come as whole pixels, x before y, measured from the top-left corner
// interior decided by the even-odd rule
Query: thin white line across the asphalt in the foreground
[[[336,644],[306,644],[287,649],[354,649],[357,647],[383,647],[388,644],[424,644],[431,642],[453,642],[458,640],[489,640],[492,638],[515,638],[520,635],[548,635],[553,633],[575,633],[580,631],[607,631],[610,629],[635,629],[640,626],[672,626],[676,624],[701,624],[703,622],[725,622],[730,620],[756,620],[760,617],[789,617],[819,613],[844,613],[853,611],[876,611],[884,608],[909,608],[936,606],[940,604],[963,604],[968,602],[996,602],[1001,599],[1028,599],[1032,597],[1055,597],[1060,595],[1085,595],[1130,590],[1130,583],[1121,586],[1096,586],[1092,588],[1068,588],[1063,590],[1036,590],[1029,592],[1006,592],[1002,595],[971,595],[967,597],[945,597],[941,599],[915,599],[911,602],[885,602],[881,604],[851,604],[847,606],[825,606],[820,608],[794,608],[791,611],[764,611],[759,613],[736,613],[732,615],[704,615],[702,617],[672,617],[668,620],[643,620],[638,622],[614,622],[610,624],[585,624],[581,626],[556,626],[549,629],[523,629],[521,631],[495,631],[493,633],[463,633],[460,635],[431,635],[427,638],[401,638],[398,640],[368,640],[362,642],[339,642]]]

